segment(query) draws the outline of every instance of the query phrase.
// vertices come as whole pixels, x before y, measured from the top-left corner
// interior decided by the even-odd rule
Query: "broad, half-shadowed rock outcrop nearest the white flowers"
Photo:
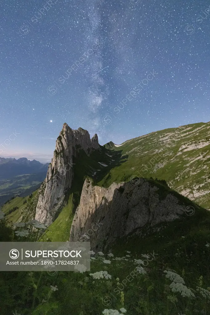
[[[183,214],[184,205],[172,194],[160,200],[159,188],[144,179],[138,183],[113,183],[106,189],[93,186],[87,178],[74,215],[70,241],[86,240],[93,250],[106,250],[117,238],[138,233],[147,225],[173,221]]]

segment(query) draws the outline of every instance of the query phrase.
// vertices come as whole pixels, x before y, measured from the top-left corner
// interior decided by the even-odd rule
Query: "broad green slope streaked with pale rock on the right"
[[[210,123],[197,123],[164,129],[125,141],[122,146],[115,147],[112,151],[113,154],[121,152],[125,156],[125,163],[112,168],[108,180],[104,178],[98,184],[109,186],[113,181],[129,180],[132,175],[157,177],[166,180],[169,186],[179,193],[188,189],[188,198],[210,209],[209,127]],[[187,134],[189,132],[190,134]],[[209,144],[186,152],[180,150],[183,144],[199,144],[202,141]],[[105,146],[111,148],[109,144]],[[160,155],[157,155],[158,152]],[[202,196],[197,196],[199,192]]]

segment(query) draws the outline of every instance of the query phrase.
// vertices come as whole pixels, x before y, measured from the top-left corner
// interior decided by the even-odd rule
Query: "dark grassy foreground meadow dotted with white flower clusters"
[[[4,224],[1,220],[1,240],[17,240]],[[1,272],[1,312],[106,315],[125,309],[127,315],[208,315],[209,244],[210,213],[200,208],[143,239],[119,240],[111,253],[92,253],[89,272]]]

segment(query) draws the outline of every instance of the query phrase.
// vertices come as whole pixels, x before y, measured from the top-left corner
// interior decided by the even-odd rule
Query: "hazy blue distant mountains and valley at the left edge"
[[[26,157],[0,157],[0,206],[15,195],[23,197],[36,190],[46,177],[48,165]]]

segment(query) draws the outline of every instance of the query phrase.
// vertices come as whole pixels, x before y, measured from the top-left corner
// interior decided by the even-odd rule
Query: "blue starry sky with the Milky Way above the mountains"
[[[3,0],[0,156],[50,162],[65,122],[103,145],[209,121],[209,5]]]

